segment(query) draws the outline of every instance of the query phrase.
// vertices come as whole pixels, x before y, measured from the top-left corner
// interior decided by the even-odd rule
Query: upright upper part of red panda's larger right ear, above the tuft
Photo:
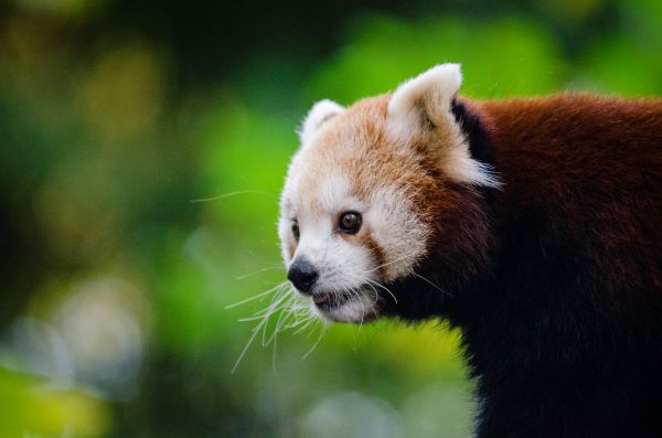
[[[392,129],[410,137],[451,117],[450,105],[462,84],[459,64],[439,64],[402,84],[388,104]]]

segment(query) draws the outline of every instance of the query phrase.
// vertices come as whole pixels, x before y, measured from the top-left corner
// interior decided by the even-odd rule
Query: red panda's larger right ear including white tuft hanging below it
[[[431,122],[445,145],[441,169],[453,181],[499,186],[490,168],[471,158],[469,145],[451,111],[462,73],[458,64],[440,64],[402,84],[388,104],[388,133],[407,145],[429,137]],[[434,137],[430,138],[433,141]],[[437,145],[434,145],[435,147]]]

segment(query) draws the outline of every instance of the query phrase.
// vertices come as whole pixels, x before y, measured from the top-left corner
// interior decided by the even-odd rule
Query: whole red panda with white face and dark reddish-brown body
[[[662,99],[460,84],[442,64],[313,106],[288,279],[332,321],[459,328],[478,437],[662,436]]]

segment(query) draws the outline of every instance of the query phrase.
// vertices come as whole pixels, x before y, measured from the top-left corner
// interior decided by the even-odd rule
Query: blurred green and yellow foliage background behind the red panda
[[[438,322],[276,314],[231,372],[302,115],[440,62],[472,97],[660,95],[662,2],[0,2],[0,438],[470,436]]]

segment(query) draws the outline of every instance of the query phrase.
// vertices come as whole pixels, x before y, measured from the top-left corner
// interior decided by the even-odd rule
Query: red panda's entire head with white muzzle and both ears
[[[322,317],[378,317],[396,305],[389,285],[415,275],[441,241],[465,245],[451,227],[467,228],[457,221],[479,212],[462,188],[496,181],[470,157],[453,117],[460,83],[458,65],[438,65],[393,95],[348,108],[322,100],[306,117],[279,236],[288,278]]]

